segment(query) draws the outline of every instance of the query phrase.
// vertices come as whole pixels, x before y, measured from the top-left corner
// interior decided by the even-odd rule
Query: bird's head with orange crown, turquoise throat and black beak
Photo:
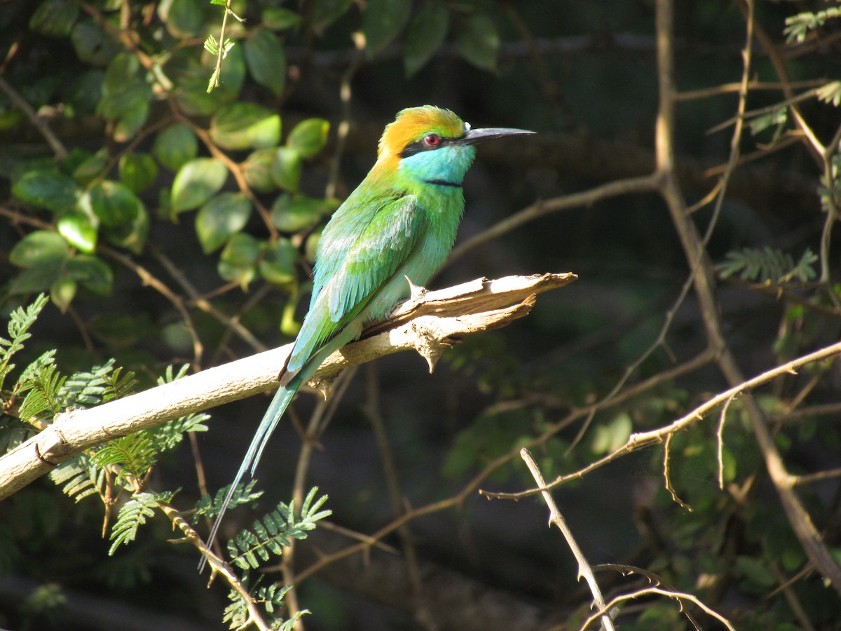
[[[460,186],[479,142],[533,134],[509,128],[472,130],[449,109],[424,105],[401,110],[379,141],[377,162],[426,183]]]

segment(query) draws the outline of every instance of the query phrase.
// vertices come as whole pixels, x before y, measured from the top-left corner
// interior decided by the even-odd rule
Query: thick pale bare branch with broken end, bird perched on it
[[[321,390],[348,366],[414,349],[430,365],[461,337],[505,326],[527,315],[535,296],[577,278],[572,273],[481,278],[423,292],[399,305],[392,320],[374,323],[359,342],[333,353],[316,372]],[[55,422],[0,458],[0,500],[77,453],[167,421],[276,387],[292,345],[258,353],[89,410],[56,415]],[[313,381],[310,381],[313,383]]]

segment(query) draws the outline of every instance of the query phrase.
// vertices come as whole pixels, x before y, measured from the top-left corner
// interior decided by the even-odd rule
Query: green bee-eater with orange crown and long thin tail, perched
[[[207,540],[246,472],[253,476],[269,437],[295,393],[331,353],[356,340],[371,321],[422,288],[446,260],[464,210],[462,182],[475,146],[514,128],[471,129],[449,109],[399,111],[380,138],[371,171],[336,209],[318,241],[313,290],[279,388],[230,485]],[[413,289],[414,287],[414,289]],[[199,570],[204,567],[204,557]]]

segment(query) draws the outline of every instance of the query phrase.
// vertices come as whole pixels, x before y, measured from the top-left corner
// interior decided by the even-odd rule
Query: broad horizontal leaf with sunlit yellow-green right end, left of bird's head
[[[280,116],[256,103],[231,103],[210,119],[210,137],[225,149],[267,149],[280,141]]]

